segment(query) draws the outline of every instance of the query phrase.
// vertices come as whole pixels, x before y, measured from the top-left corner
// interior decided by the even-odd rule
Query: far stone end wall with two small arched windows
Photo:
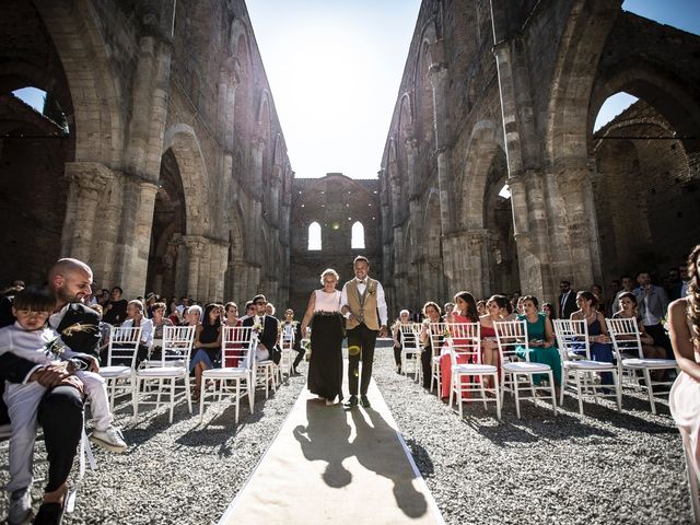
[[[340,275],[338,289],[353,277],[352,260],[370,259],[370,273],[382,273],[382,228],[378,182],[353,180],[339,173],[323,178],[295,178],[291,199],[291,287],[289,304],[301,319],[320,273]],[[320,249],[308,249],[310,226],[320,230]],[[357,224],[361,224],[361,228]],[[364,248],[352,245],[352,232],[363,233]]]

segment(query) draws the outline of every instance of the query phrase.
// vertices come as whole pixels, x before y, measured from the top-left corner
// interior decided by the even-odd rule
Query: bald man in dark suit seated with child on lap
[[[48,284],[56,298],[49,325],[59,332],[75,323],[94,325],[94,330],[73,331],[71,335],[63,335],[62,339],[72,350],[96,357],[100,342],[98,316],[95,311],[81,304],[82,299],[92,292],[92,270],[78,259],[59,259],[49,270]],[[80,380],[69,373],[67,363],[37,368],[35,362],[10,352],[0,355],[2,386],[4,381],[35,381],[48,388],[37,410],[37,420],[44,429],[49,462],[48,481],[35,523],[58,523],[68,490],[68,476],[83,429],[82,385]],[[12,522],[21,523],[22,515],[26,520],[31,513],[30,487],[25,485],[25,480],[13,479],[8,483],[9,517]]]

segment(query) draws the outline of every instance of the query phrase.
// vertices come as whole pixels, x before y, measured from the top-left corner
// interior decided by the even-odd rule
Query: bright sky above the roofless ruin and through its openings
[[[376,177],[420,0],[247,7],[296,176]],[[626,0],[622,9],[700,34],[700,0]],[[23,97],[40,110],[40,94]],[[596,129],[633,101],[610,97]]]

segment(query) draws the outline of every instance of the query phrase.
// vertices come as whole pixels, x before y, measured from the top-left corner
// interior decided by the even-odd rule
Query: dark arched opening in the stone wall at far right
[[[687,132],[644,100],[594,132],[593,192],[606,281],[640,270],[662,279],[700,238],[700,187],[686,149],[692,142],[682,140]]]

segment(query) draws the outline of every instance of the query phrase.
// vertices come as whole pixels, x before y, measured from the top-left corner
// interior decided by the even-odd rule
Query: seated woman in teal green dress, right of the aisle
[[[559,350],[557,350],[551,320],[545,314],[538,312],[538,304],[539,302],[534,295],[523,295],[523,310],[525,313],[518,315],[517,319],[525,319],[527,323],[529,360],[535,363],[548,364],[551,368],[555,388],[557,389],[557,394],[559,394],[559,386],[561,385],[561,358],[559,357]],[[520,358],[524,359],[525,348],[517,348],[516,353]],[[533,376],[533,383],[540,385],[546,377],[544,374],[535,374]]]

